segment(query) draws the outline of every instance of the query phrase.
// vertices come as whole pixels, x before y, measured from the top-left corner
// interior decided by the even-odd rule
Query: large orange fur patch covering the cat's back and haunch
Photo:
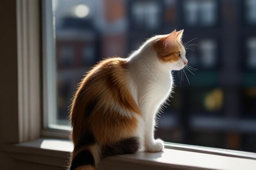
[[[121,115],[117,109],[141,115],[128,88],[126,59],[103,60],[82,80],[71,106],[74,146],[90,130],[99,145],[132,137],[137,119]]]

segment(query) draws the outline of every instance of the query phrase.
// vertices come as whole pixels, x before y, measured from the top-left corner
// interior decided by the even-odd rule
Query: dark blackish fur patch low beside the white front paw
[[[139,150],[140,147],[138,139],[139,138],[137,137],[132,137],[125,139],[124,141],[120,141],[116,144],[103,146],[102,156],[107,157],[110,155],[135,153]]]

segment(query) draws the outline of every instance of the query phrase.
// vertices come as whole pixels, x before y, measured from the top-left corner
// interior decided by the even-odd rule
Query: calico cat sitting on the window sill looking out
[[[128,58],[109,58],[83,78],[72,99],[69,170],[94,170],[109,155],[160,152],[155,117],[172,91],[172,70],[188,60],[183,30],[148,39]]]

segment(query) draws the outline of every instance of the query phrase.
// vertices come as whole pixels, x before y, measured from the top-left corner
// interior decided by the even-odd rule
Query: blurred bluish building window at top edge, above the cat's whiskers
[[[184,21],[188,26],[214,26],[218,20],[216,0],[185,0]]]

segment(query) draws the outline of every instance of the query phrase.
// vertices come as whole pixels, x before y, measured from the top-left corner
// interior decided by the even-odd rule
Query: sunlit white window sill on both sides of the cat
[[[58,167],[67,167],[72,149],[68,140],[43,138],[1,148],[13,159]],[[181,144],[167,144],[164,152],[106,157],[99,163],[99,170],[255,170],[255,167],[255,153]]]

